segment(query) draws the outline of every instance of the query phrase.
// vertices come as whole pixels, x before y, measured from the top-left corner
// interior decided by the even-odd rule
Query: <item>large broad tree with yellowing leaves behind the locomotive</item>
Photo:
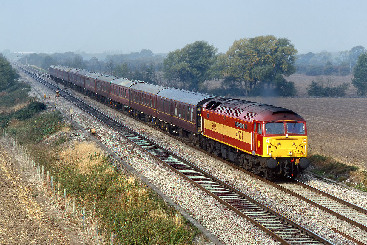
[[[294,73],[296,53],[297,49],[287,38],[277,39],[272,35],[242,38],[234,41],[226,52],[222,76],[239,85],[247,96],[257,83],[269,88],[277,77]]]

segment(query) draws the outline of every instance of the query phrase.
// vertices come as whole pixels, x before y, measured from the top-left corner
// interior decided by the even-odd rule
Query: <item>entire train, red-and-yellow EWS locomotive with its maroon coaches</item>
[[[79,68],[50,76],[267,179],[297,177],[310,164],[306,121],[272,105],[167,88]]]

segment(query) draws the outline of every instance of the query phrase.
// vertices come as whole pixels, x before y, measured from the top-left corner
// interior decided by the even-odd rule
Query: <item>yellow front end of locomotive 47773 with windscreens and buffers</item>
[[[262,155],[270,157],[267,166],[271,169],[281,167],[290,177],[294,169],[305,169],[310,162],[307,156],[307,131],[305,121],[264,122]],[[298,172],[298,171],[297,171]]]

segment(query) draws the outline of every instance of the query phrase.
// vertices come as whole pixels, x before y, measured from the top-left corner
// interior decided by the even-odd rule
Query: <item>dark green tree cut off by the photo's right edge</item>
[[[356,87],[358,95],[365,96],[367,94],[367,52],[359,55],[353,73],[352,85]]]

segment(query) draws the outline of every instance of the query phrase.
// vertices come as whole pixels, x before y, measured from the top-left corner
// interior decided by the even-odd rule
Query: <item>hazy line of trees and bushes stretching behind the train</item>
[[[226,53],[218,53],[218,49],[206,41],[196,41],[168,52],[166,56],[154,54],[149,49],[107,55],[104,61],[96,56],[83,60],[81,54],[73,52],[33,53],[29,55],[28,62],[45,70],[52,64],[59,64],[219,96],[295,96],[295,83],[287,81],[286,77],[302,71],[302,64],[321,66],[326,62],[320,74],[331,76],[336,71],[346,70],[349,62],[350,67],[355,66],[353,71],[358,72],[358,57],[366,50],[356,46],[350,51],[340,52],[339,59],[334,58],[339,68],[332,66],[331,53],[297,55],[297,52],[287,38],[267,35],[235,40]],[[208,89],[210,81],[215,79],[220,87]],[[329,86],[329,82],[325,84],[319,80],[312,81],[309,95],[344,96],[349,87],[349,83],[335,87]],[[353,80],[352,85],[356,86],[359,95],[366,93],[361,82]]]

